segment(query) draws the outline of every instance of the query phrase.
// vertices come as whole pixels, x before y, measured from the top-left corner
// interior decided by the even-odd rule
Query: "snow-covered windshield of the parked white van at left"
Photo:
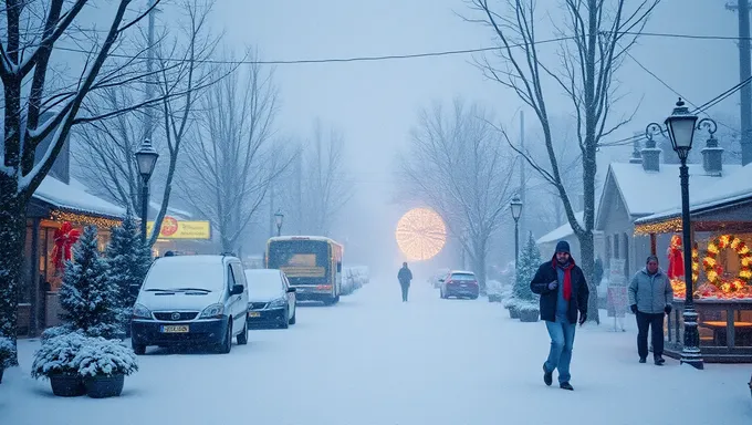
[[[179,288],[221,291],[224,288],[222,263],[156,261],[146,276],[143,289]]]

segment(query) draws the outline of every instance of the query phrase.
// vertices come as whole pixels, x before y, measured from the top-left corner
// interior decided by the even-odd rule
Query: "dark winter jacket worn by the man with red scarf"
[[[571,259],[574,262],[574,258]],[[566,318],[570,323],[577,323],[577,311],[582,314],[587,314],[587,299],[591,291],[587,289],[587,281],[585,281],[585,273],[576,265],[572,268],[572,296],[570,297],[570,305]],[[541,319],[549,322],[556,321],[556,304],[558,303],[558,287],[554,290],[549,289],[549,283],[557,282],[558,277],[556,272],[556,256],[551,261],[544,262],[537,268],[535,277],[530,282],[530,290],[533,293],[541,296]]]

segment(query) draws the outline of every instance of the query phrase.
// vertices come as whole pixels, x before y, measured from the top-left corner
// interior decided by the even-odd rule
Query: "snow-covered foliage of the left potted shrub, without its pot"
[[[46,340],[34,353],[31,376],[39,379],[56,374],[77,374],[79,367],[74,359],[90,340],[81,332],[71,332]]]

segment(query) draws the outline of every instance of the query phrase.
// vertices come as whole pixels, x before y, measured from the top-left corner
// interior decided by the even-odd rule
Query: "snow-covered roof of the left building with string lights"
[[[66,185],[52,176],[44,177],[33,198],[75,212],[117,218],[125,216],[124,208],[87,193],[80,182],[75,186]]]

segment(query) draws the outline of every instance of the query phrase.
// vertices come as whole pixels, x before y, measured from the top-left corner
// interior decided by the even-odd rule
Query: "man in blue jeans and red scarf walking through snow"
[[[570,363],[574,331],[577,312],[579,325],[587,320],[589,290],[585,274],[570,253],[567,241],[556,243],[556,252],[551,261],[537,268],[530,289],[541,296],[541,319],[545,321],[551,336],[549,359],[543,363],[543,382],[551,385],[554,370],[558,370],[558,386],[572,391],[574,387],[570,384]]]

